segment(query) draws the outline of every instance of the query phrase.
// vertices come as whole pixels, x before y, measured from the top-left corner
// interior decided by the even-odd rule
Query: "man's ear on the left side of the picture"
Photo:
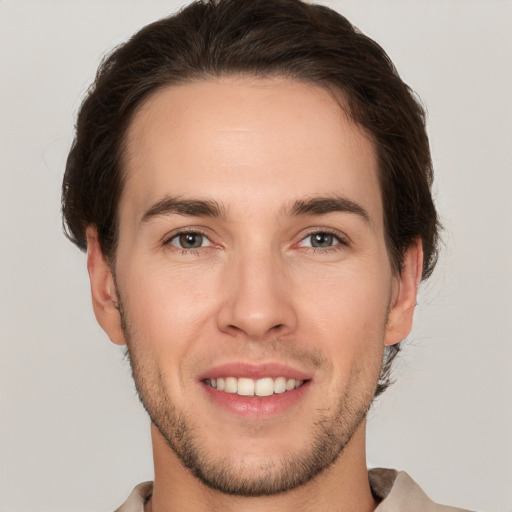
[[[87,270],[91,282],[92,307],[96,320],[116,345],[124,345],[121,315],[112,270],[98,240],[95,227],[89,226],[87,236]]]

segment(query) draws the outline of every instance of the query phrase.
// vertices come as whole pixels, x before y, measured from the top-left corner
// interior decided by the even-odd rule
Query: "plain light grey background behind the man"
[[[368,460],[440,502],[512,511],[512,2],[326,2],[429,112],[446,231]],[[60,182],[99,59],[177,1],[0,0],[0,510],[108,511],[152,478],[149,422],[96,325]]]

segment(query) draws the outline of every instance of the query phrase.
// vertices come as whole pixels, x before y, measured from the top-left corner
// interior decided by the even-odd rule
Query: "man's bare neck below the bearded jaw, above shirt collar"
[[[274,496],[240,497],[204,485],[185,468],[154,425],[153,495],[145,512],[371,512],[377,503],[368,482],[363,421],[338,459],[310,482]]]

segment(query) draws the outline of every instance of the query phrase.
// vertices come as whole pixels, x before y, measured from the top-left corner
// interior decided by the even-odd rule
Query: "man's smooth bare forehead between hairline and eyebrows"
[[[381,222],[377,159],[327,89],[288,79],[222,78],[170,86],[129,127],[120,202],[133,221],[165,195],[248,211],[337,194]]]

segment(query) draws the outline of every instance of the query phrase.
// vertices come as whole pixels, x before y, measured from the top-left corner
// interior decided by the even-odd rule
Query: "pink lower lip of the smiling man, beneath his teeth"
[[[311,381],[299,388],[270,396],[240,396],[235,393],[219,391],[201,382],[210,400],[224,410],[244,418],[267,418],[283,414],[298,404],[308,392]]]

